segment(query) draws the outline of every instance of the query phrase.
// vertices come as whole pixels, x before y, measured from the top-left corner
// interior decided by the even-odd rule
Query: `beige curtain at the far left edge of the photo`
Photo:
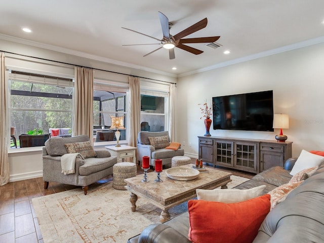
[[[0,186],[9,182],[9,158],[8,158],[8,138],[9,138],[9,119],[7,113],[8,84],[5,78],[5,54],[0,53]]]

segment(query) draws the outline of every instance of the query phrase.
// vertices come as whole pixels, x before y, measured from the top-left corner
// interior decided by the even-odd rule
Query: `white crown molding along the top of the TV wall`
[[[279,48],[268,50],[265,52],[260,52],[260,53],[256,53],[253,55],[241,57],[241,58],[236,58],[236,59],[233,59],[233,60],[230,60],[227,62],[221,62],[221,63],[215,64],[215,65],[196,69],[196,70],[193,70],[190,72],[184,72],[184,73],[179,74],[178,77],[184,77],[184,76],[192,75],[195,73],[206,72],[209,70],[230,66],[230,65],[237,64],[240,62],[246,62],[246,61],[250,61],[250,60],[254,60],[254,59],[258,59],[258,58],[262,58],[262,57],[267,57],[267,56],[271,56],[271,55],[275,55],[275,54],[279,54],[279,53],[283,53],[283,52],[288,52],[288,51],[320,44],[320,43],[324,43],[324,36],[320,36],[320,37],[313,38],[313,39],[308,39],[307,41],[304,41],[304,42],[299,42],[299,43],[295,43],[292,45],[279,47]]]

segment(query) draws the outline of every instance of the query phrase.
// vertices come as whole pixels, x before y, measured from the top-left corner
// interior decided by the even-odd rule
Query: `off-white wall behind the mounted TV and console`
[[[293,156],[324,150],[324,44],[181,77],[177,82],[177,135],[186,154],[197,156],[205,126],[198,103],[212,97],[273,90],[274,113],[289,114],[284,130]],[[274,132],[213,130],[212,136],[275,140]]]

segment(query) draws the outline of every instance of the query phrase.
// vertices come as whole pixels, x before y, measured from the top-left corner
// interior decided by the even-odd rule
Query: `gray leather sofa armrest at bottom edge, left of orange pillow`
[[[190,243],[191,241],[177,230],[165,224],[147,226],[138,239],[138,243]]]

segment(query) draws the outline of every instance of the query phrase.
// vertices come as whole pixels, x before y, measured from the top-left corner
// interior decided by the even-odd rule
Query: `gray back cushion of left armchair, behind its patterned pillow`
[[[66,154],[66,143],[76,143],[76,142],[86,142],[90,141],[87,135],[79,135],[70,138],[61,138],[61,137],[54,137],[50,138],[45,142],[45,148],[49,155],[51,156],[62,156]]]

